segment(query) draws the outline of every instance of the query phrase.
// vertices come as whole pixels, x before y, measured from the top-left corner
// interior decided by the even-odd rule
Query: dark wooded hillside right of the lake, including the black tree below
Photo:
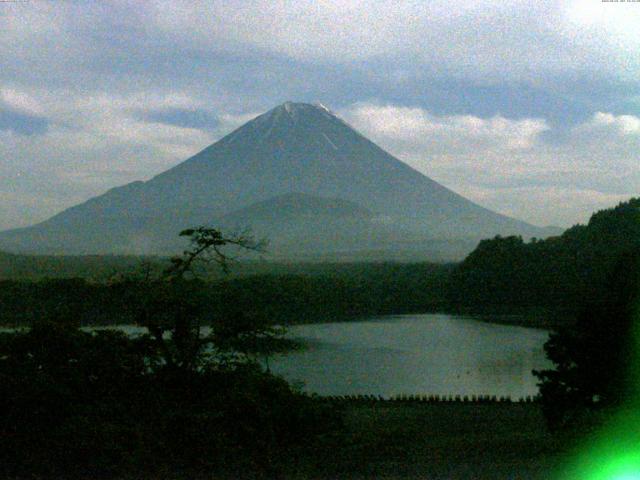
[[[576,318],[545,345],[555,368],[535,372],[550,426],[570,425],[635,395],[629,365],[638,354],[631,339],[639,257],[640,199],[632,199],[559,237],[482,241],[454,269],[449,301],[476,309],[546,306]]]

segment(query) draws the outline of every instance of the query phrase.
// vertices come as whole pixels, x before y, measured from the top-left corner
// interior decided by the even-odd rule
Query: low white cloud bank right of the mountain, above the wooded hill
[[[640,193],[640,119],[598,112],[548,144],[542,119],[435,116],[360,103],[342,114],[380,146],[458,193],[537,224],[569,226]]]

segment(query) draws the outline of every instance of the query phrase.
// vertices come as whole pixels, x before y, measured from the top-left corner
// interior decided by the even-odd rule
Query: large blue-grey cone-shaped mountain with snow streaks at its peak
[[[164,254],[179,248],[177,233],[185,227],[242,222],[268,236],[275,250],[286,244],[292,255],[298,245],[305,254],[373,249],[384,257],[397,243],[428,256],[430,242],[451,241],[458,250],[462,242],[469,251],[496,234],[559,233],[463,198],[322,105],[286,102],[147,182],[111,189],[40,224],[0,233],[0,248]],[[324,238],[321,225],[333,235]]]

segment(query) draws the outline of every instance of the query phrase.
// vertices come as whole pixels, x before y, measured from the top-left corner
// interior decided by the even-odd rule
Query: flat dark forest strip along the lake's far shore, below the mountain
[[[159,282],[166,266],[149,265],[136,275],[108,283],[80,278],[0,281],[0,325],[28,326],[43,314],[68,312],[68,305],[73,305],[74,321],[80,325],[144,323],[134,307],[156,288],[164,291],[165,298],[180,296],[178,290],[183,289],[192,301],[197,299],[203,310],[202,326],[237,315],[238,305],[244,315],[266,317],[280,325],[438,311],[446,308],[447,278],[453,265],[236,263],[233,274],[225,279],[200,273],[203,267],[207,265],[196,267],[198,277],[188,278],[188,287]],[[156,318],[160,318],[164,307],[162,302],[156,306]]]

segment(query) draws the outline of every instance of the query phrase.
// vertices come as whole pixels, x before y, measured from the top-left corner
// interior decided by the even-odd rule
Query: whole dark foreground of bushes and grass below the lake
[[[169,367],[151,337],[51,324],[1,349],[3,478],[546,479],[566,451],[534,403],[336,404],[226,355]]]

